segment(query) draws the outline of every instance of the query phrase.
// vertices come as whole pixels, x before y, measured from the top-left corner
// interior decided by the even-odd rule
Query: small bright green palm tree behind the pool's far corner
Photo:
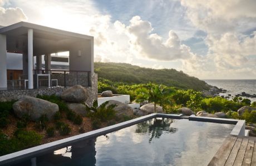
[[[170,89],[166,89],[163,85],[147,84],[136,90],[136,102],[153,102],[154,112],[156,112],[156,104],[163,105],[163,103],[170,102],[168,96],[171,94]]]

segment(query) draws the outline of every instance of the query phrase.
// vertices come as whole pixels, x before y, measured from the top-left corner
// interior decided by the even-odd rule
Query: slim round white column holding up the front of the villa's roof
[[[33,29],[28,29],[28,89],[33,89]]]

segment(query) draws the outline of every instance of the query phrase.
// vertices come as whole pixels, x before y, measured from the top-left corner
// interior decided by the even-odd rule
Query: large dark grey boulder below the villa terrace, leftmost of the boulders
[[[23,115],[28,115],[32,121],[38,120],[42,115],[46,115],[49,120],[52,120],[58,105],[40,98],[24,96],[13,104],[15,115],[22,118]]]

